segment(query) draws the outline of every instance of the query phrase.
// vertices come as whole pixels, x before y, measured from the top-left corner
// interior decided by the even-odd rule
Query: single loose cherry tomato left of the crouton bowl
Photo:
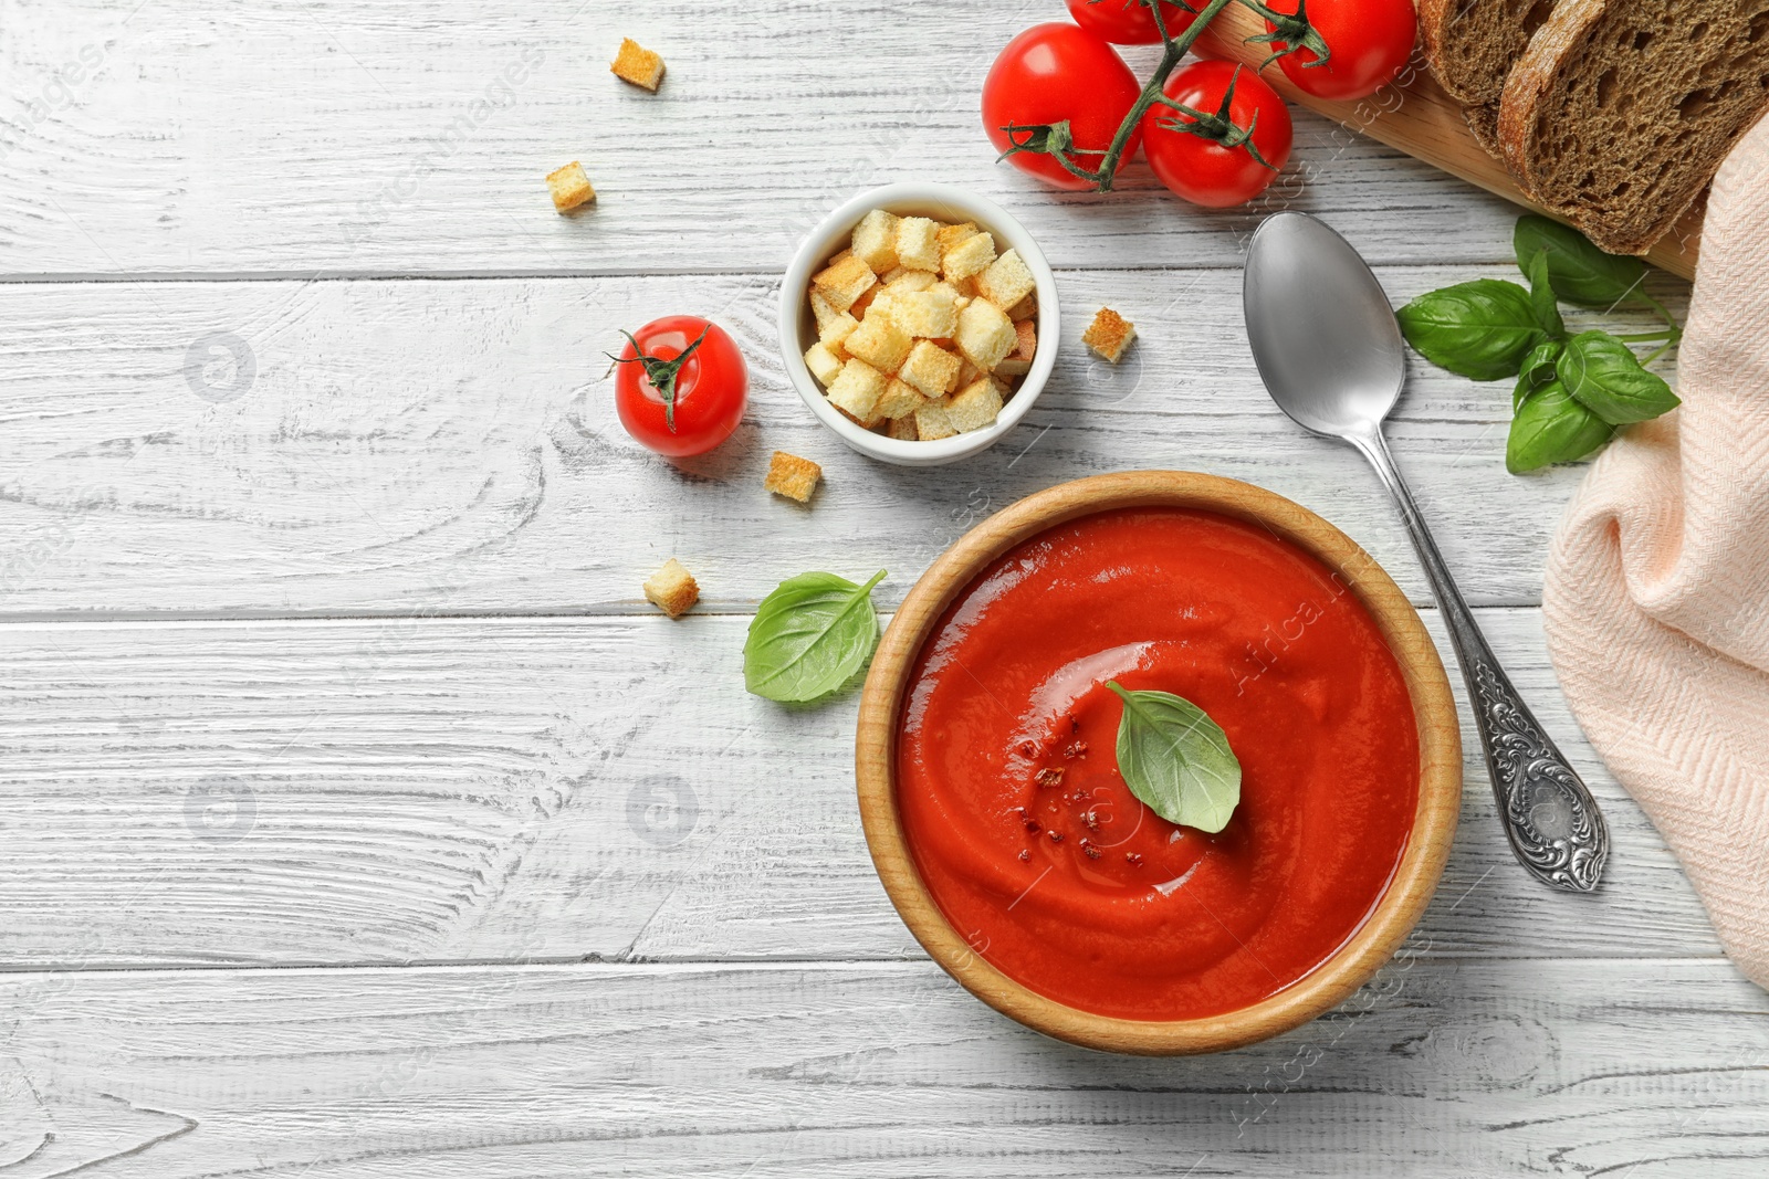
[[[688,354],[686,359],[683,354]],[[640,357],[656,364],[646,364]],[[750,399],[750,369],[738,343],[718,323],[692,315],[651,320],[626,341],[616,359],[619,373],[614,380],[614,408],[626,433],[658,454],[706,454],[743,421],[743,407]],[[674,382],[660,375],[658,384],[653,384],[651,371],[658,371],[658,364],[674,364]],[[670,384],[672,405],[658,387]]]

